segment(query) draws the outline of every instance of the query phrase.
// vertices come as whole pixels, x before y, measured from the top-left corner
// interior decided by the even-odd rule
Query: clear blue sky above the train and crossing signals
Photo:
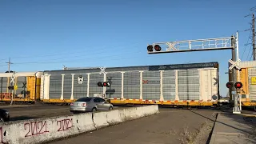
[[[58,70],[62,65],[142,66],[219,62],[221,94],[230,50],[152,54],[152,42],[229,37],[239,33],[240,58],[254,0],[0,1],[0,71]],[[245,53],[243,54],[243,52]],[[242,57],[243,54],[243,57]]]

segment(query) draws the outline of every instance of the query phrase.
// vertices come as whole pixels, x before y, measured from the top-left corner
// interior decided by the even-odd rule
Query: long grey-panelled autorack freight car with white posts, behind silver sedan
[[[50,70],[42,74],[40,99],[70,103],[102,94],[117,104],[214,106],[219,99],[218,62]],[[110,82],[100,87],[98,82]]]

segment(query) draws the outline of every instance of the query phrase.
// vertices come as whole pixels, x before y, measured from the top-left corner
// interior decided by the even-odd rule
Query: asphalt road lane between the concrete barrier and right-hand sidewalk
[[[52,144],[206,143],[216,110],[160,108],[160,114],[65,138]],[[210,124],[209,124],[210,123]]]

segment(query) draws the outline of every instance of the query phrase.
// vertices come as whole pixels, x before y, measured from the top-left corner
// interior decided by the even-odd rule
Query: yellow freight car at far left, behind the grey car
[[[10,72],[0,73],[0,102],[10,102],[13,94],[14,102],[34,103],[40,100],[42,72]],[[9,90],[10,81],[14,78],[15,90]]]

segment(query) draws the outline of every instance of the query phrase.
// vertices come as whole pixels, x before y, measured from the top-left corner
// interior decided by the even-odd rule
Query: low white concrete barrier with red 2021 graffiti
[[[98,113],[36,118],[0,125],[0,143],[42,143],[65,138],[128,120],[157,114],[158,106],[138,106]]]

